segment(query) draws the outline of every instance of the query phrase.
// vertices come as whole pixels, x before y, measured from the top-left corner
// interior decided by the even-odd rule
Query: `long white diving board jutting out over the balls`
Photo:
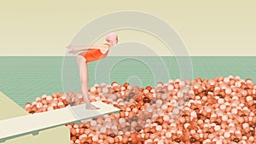
[[[17,136],[27,134],[38,135],[40,130],[120,111],[119,108],[109,106],[101,101],[92,102],[92,104],[100,107],[100,109],[86,109],[85,104],[82,104],[0,120],[0,143]]]

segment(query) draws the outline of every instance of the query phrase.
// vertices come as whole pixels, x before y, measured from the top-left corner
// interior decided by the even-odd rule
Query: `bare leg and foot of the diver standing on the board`
[[[79,74],[82,86],[82,93],[84,95],[84,101],[87,109],[99,109],[99,107],[93,106],[88,98],[88,67],[87,62],[82,55],[77,56],[77,63],[79,66]]]

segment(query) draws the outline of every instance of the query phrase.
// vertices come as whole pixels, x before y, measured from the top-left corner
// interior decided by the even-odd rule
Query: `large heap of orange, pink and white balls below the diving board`
[[[67,124],[70,143],[256,143],[256,85],[250,78],[171,79],[144,89],[102,83],[89,94],[90,101],[121,111]],[[46,112],[81,103],[81,92],[69,91],[37,97],[25,110]]]

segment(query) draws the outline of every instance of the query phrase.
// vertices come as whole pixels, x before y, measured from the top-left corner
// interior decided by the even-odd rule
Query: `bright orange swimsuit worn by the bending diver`
[[[108,51],[106,53],[108,53]],[[101,49],[90,49],[80,53],[79,55],[84,56],[86,62],[90,62],[95,60],[101,60],[104,54],[102,54]]]

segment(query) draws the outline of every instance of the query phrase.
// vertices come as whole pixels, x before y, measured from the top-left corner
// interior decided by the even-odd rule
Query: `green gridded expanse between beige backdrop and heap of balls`
[[[118,62],[114,65],[106,65],[106,62],[116,60]],[[154,68],[143,63],[143,60],[149,61]],[[253,82],[256,80],[256,57],[194,56],[191,57],[191,60],[193,78],[238,75],[241,78],[252,78]],[[66,74],[65,72],[62,73],[62,64]],[[143,87],[146,85],[154,86],[159,79],[155,76],[166,78],[166,72],[169,73],[168,77],[172,79],[180,78],[179,66],[177,66],[175,57],[108,57],[104,60],[90,62],[88,67],[89,86],[95,83],[100,84],[106,80],[105,78],[109,78],[110,82],[116,81],[119,84],[128,81],[142,84]],[[101,68],[100,72],[96,72]],[[157,72],[152,70],[155,68]],[[106,69],[109,69],[110,73]],[[65,80],[69,84],[63,86],[62,81]],[[166,83],[168,79],[161,81]],[[18,103],[20,107],[24,107],[27,101],[34,101],[37,96],[67,90],[77,92],[79,89],[79,72],[75,57],[65,57],[65,59],[62,56],[0,57],[0,90],[9,95],[10,99]]]

